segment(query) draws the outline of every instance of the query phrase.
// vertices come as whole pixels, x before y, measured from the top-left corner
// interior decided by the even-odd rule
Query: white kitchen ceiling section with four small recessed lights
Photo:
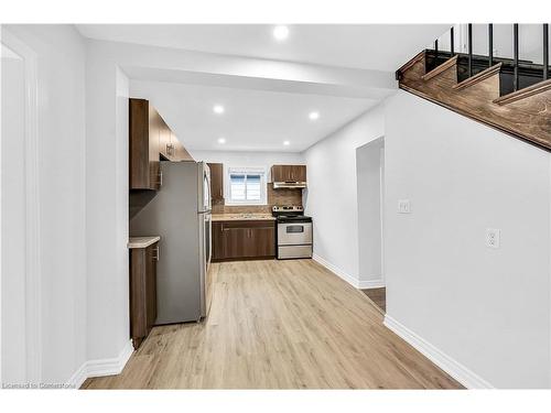
[[[190,150],[301,152],[377,102],[142,80],[131,80],[130,95],[149,99]],[[215,115],[214,105],[225,112]],[[314,110],[316,121],[309,119]],[[217,143],[220,137],[225,144]]]

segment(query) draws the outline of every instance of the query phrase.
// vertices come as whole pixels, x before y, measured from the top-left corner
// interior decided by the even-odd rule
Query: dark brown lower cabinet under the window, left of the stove
[[[276,257],[276,221],[213,222],[213,261]]]

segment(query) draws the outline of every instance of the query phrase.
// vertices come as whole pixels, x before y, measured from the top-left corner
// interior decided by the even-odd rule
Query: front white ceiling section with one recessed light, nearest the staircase
[[[393,72],[450,24],[78,24],[86,37],[327,66]]]

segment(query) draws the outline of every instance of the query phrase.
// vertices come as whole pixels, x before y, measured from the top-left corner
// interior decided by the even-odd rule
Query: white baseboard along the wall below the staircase
[[[424,357],[457,380],[467,389],[494,389],[482,377],[467,369],[465,366],[454,360],[446,354],[439,350],[429,341],[418,336],[415,333],[403,326],[388,314],[385,315],[385,326],[408,341],[412,347],[420,351]]]

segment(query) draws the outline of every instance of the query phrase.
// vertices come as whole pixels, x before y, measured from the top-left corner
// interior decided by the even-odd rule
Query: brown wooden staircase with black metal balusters
[[[473,25],[467,25],[466,53],[455,53],[452,28],[447,51],[435,41],[397,70],[399,87],[551,151],[549,26],[542,24],[541,64],[519,58],[518,24],[512,58],[495,57],[493,30],[488,24],[488,54],[479,55],[473,53]]]

